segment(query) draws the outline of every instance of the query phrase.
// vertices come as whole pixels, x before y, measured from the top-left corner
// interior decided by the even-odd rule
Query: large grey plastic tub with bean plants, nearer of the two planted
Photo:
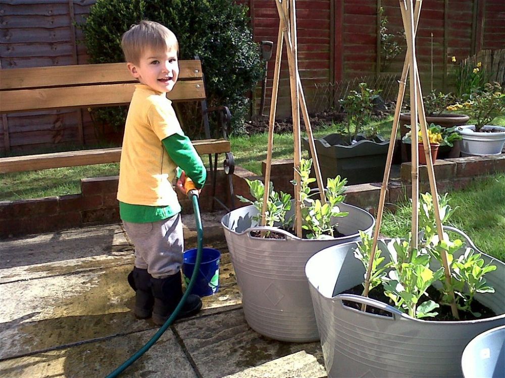
[[[388,260],[386,244],[379,248]],[[339,294],[364,281],[365,268],[354,257],[356,242],[319,251],[309,259],[306,275],[314,303],[329,377],[461,377],[463,349],[475,336],[505,325],[505,265],[482,255],[497,269],[486,275],[495,293],[477,294],[493,318],[436,322],[413,319],[396,308],[359,295]],[[464,249],[455,253],[458,258]],[[391,317],[347,307],[342,301],[381,308]]]

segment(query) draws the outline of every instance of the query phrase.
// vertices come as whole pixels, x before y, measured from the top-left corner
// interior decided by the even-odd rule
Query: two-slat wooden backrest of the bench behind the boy
[[[172,101],[205,99],[200,60],[180,60]],[[128,104],[137,84],[126,63],[0,70],[0,113]]]

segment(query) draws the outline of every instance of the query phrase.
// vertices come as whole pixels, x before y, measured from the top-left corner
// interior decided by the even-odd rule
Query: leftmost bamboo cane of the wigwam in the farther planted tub
[[[283,25],[279,23],[279,33],[277,35],[277,51],[275,54],[274,79],[272,82],[272,98],[270,99],[270,116],[268,119],[268,145],[267,145],[267,163],[265,169],[265,193],[263,195],[263,205],[261,209],[262,226],[264,226],[266,223],[265,213],[267,211],[267,201],[268,201],[268,195],[270,193],[270,173],[272,168],[272,150],[274,146],[275,112],[277,110],[277,93],[279,89],[279,73],[282,60],[283,39],[284,39]]]

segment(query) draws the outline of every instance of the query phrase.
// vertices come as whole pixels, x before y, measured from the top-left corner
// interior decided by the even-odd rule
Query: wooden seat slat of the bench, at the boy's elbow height
[[[201,139],[193,141],[192,143],[199,155],[219,154],[231,151],[230,141],[225,139]],[[117,163],[120,159],[120,147],[14,156],[0,158],[0,173],[75,167],[79,165]]]

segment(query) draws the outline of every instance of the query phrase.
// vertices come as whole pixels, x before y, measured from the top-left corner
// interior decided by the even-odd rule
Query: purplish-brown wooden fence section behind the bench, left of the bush
[[[73,25],[82,23],[94,0],[4,0],[0,4],[2,69],[66,66],[85,63],[82,33]],[[81,45],[81,46],[78,46]],[[34,121],[37,120],[38,122]],[[0,152],[32,151],[60,145],[83,144],[81,110],[29,112],[2,116]]]

